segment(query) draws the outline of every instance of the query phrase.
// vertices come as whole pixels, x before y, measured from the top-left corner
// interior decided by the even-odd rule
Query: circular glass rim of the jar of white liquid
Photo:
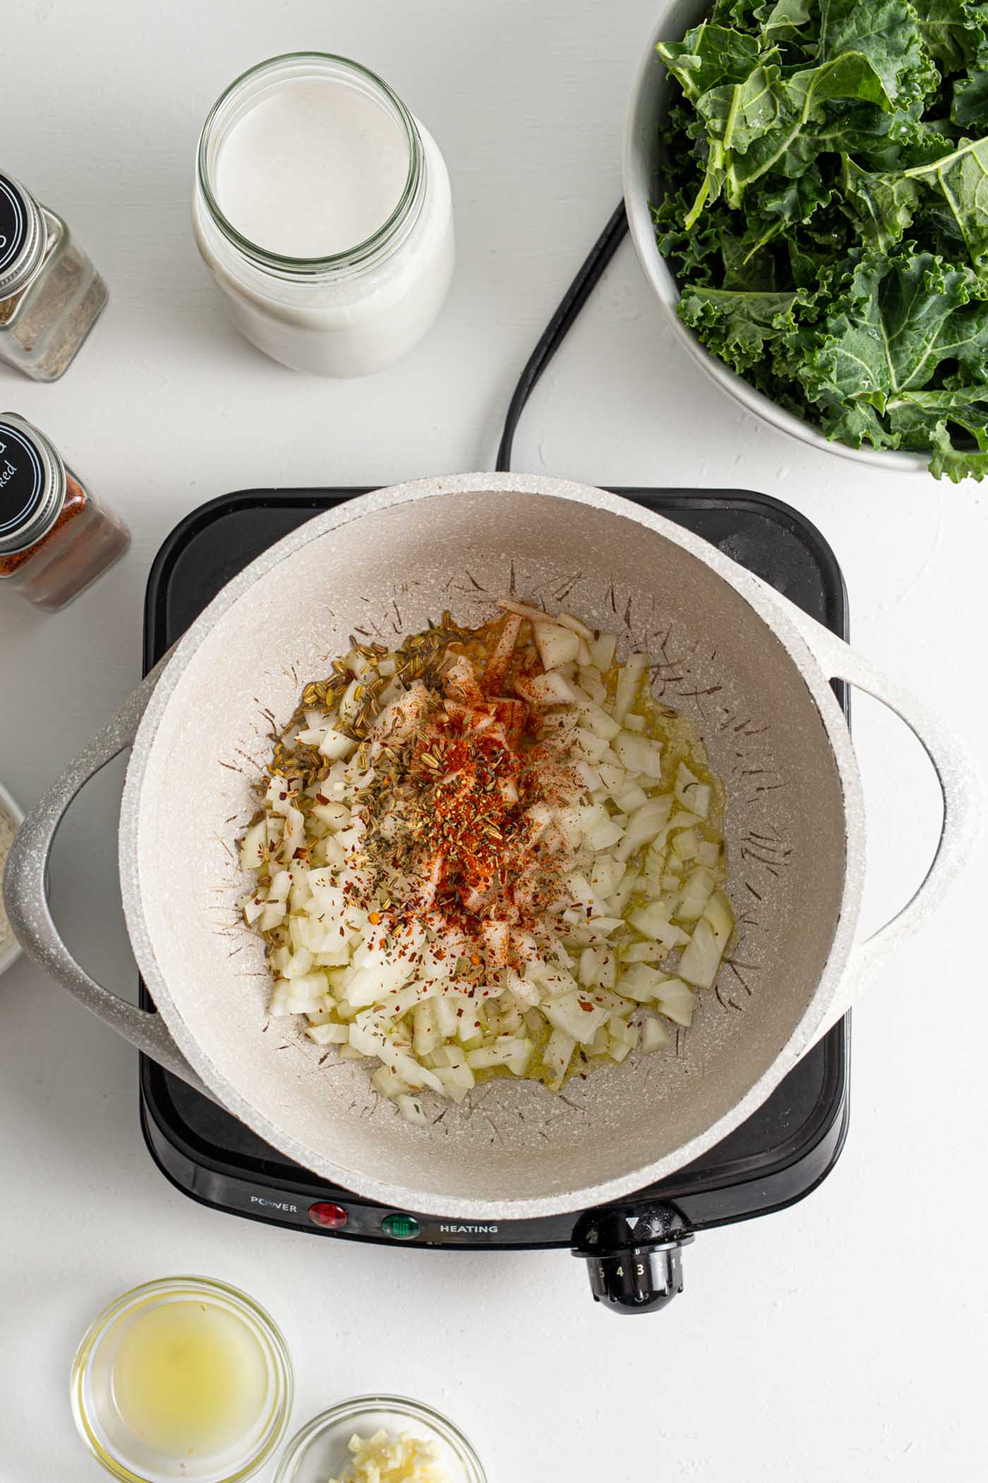
[[[394,206],[391,215],[363,242],[354,243],[351,248],[345,248],[342,252],[330,252],[326,257],[318,258],[296,258],[283,252],[273,252],[270,248],[261,246],[258,242],[252,242],[238,231],[230,218],[222,211],[216,193],[213,191],[209,178],[209,162],[207,151],[212,142],[212,135],[219,120],[224,107],[253,79],[259,77],[268,70],[281,67],[286,62],[335,62],[342,68],[356,73],[366,82],[370,82],[385,101],[394,108],[401,129],[404,132],[404,139],[409,147],[409,172],[398,196],[397,205]],[[416,199],[419,181],[422,176],[422,141],[419,132],[415,126],[415,119],[404,107],[398,95],[393,87],[385,83],[384,77],[373,73],[369,67],[363,67],[361,62],[354,62],[350,56],[341,56],[336,52],[281,52],[278,56],[268,56],[262,62],[255,62],[244,73],[230,83],[228,87],[219,95],[216,102],[212,105],[206,114],[206,122],[203,123],[201,133],[198,136],[198,148],[196,151],[196,174],[198,181],[198,188],[203,194],[203,200],[209,209],[209,214],[215,224],[219,227],[222,234],[241,252],[246,258],[256,262],[265,268],[283,270],[289,274],[311,276],[316,273],[332,273],[333,268],[347,268],[354,264],[361,262],[364,258],[375,254],[379,248],[385,246],[388,240],[394,236],[397,228],[401,225],[407,217],[412,205]]]

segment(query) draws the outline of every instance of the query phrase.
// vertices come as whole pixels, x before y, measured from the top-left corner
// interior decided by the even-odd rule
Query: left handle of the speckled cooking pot
[[[138,688],[124,700],[113,721],[107,722],[102,731],[31,808],[10,847],[3,876],[3,897],[15,936],[50,977],[145,1056],[157,1060],[160,1066],[181,1077],[182,1081],[188,1081],[197,1091],[212,1097],[212,1091],[203,1086],[185,1060],[158,1014],[121,1000],[90,979],[86,970],[76,962],[52,919],[47,899],[47,866],[59,825],[89,779],[132,746],[141,716],[167,658],[166,654],[148,672]]]

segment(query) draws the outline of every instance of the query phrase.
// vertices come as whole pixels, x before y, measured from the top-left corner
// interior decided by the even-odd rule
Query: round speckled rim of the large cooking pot
[[[241,1097],[219,1068],[212,1062],[207,1048],[191,1034],[181,1011],[172,1000],[167,982],[158,967],[154,946],[145,925],[141,873],[138,868],[139,822],[142,816],[141,795],[157,730],[182,673],[198,651],[200,645],[212,632],[216,621],[247,592],[250,592],[259,577],[271,571],[280,562],[292,558],[298,550],[308,546],[310,541],[321,538],[329,531],[339,529],[379,510],[388,510],[410,501],[441,498],[444,495],[455,494],[529,494],[590,506],[622,519],[635,521],[704,562],[704,565],[711,568],[741,598],[744,598],[751,608],[754,608],[769,632],[782,644],[790,660],[795,664],[827,733],[843,793],[844,881],[834,939],[831,942],[816,991],[772,1065],[750,1087],[745,1096],[741,1097],[726,1114],[723,1114],[723,1117],[710,1124],[702,1133],[689,1139],[686,1143],[681,1143],[677,1149],[672,1149],[655,1163],[644,1164],[613,1179],[587,1185],[579,1189],[570,1189],[563,1194],[526,1197],[518,1200],[452,1200],[446,1195],[437,1194],[424,1195],[422,1191],[407,1189],[393,1182],[376,1179],[372,1175],[347,1169],[321,1155],[313,1155],[310,1149],[304,1148],[290,1134],[280,1130],[261,1108]],[[307,521],[296,531],[283,537],[283,540],[271,546],[267,552],[250,562],[249,567],[231,578],[222,592],[219,592],[209,607],[198,615],[198,618],[196,618],[187,633],[172,650],[135,737],[120,808],[119,869],[127,933],[130,936],[133,954],[144,976],[144,982],[147,983],[151,998],[154,1000],[157,1011],[193,1069],[218,1097],[218,1100],[233,1112],[234,1117],[240,1118],[240,1121],[246,1123],[247,1127],[250,1127],[259,1137],[278,1148],[289,1158],[293,1158],[304,1167],[314,1170],[333,1183],[342,1185],[345,1189],[353,1189],[360,1195],[373,1198],[381,1204],[421,1213],[427,1212],[430,1215],[459,1216],[461,1219],[533,1219],[579,1210],[587,1206],[597,1206],[621,1198],[622,1195],[632,1194],[646,1185],[658,1182],[674,1170],[681,1169],[693,1158],[698,1158],[704,1151],[712,1148],[721,1137],[724,1137],[732,1129],[738,1127],[751,1112],[754,1112],[773,1091],[779,1081],[782,1081],[788,1071],[791,1071],[806,1050],[809,1050],[816,1040],[821,1026],[825,1023],[827,1013],[835,1000],[855,943],[865,873],[864,796],[858,762],[850,743],[850,733],[837,698],[830,687],[830,676],[825,675],[798,627],[785,611],[784,599],[779,599],[772,589],[761,583],[757,577],[745,571],[745,568],[739,567],[736,562],[730,561],[730,558],[724,556],[720,550],[717,550],[717,547],[704,541],[701,537],[693,535],[690,531],[686,531],[662,516],[641,509],[640,506],[631,504],[619,495],[609,494],[591,485],[551,479],[544,475],[449,475],[415,479],[407,483],[375,489],[370,494],[358,495],[348,500],[345,504],[336,506],[335,509]]]

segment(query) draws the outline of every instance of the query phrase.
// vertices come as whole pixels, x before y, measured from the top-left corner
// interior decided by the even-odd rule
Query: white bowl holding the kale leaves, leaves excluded
[[[822,452],[840,454],[843,458],[855,458],[858,463],[871,464],[872,469],[886,469],[895,473],[924,472],[927,458],[914,452],[886,452],[878,448],[849,448],[847,443],[830,442],[821,432],[804,423],[800,417],[785,412],[761,392],[755,392],[744,377],[730,371],[723,360],[711,356],[699,343],[696,335],[683,323],[675,313],[680,292],[675,279],[670,271],[665,258],[659,252],[652,225],[649,202],[661,194],[661,159],[658,123],[670,102],[670,79],[665,67],[655,55],[659,42],[678,42],[690,27],[698,25],[710,12],[711,0],[658,0],[656,28],[649,42],[649,47],[638,67],[628,119],[625,123],[624,141],[624,191],[631,239],[638,254],[638,261],[646,277],[656,292],[672,334],[689,350],[690,356],[721,390],[733,396],[736,402],[760,417],[763,423],[770,423],[784,433],[791,433],[800,442],[809,443]]]

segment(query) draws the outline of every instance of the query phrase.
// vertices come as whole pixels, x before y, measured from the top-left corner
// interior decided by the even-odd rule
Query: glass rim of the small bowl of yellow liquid
[[[76,1430],[86,1443],[90,1455],[101,1464],[101,1467],[105,1468],[107,1473],[120,1479],[121,1483],[145,1483],[139,1473],[133,1473],[126,1462],[108,1452],[99,1441],[84,1403],[84,1379],[90,1360],[116,1320],[121,1318],[130,1308],[136,1308],[141,1302],[148,1298],[154,1298],[156,1295],[173,1295],[176,1299],[187,1298],[188,1295],[212,1295],[218,1299],[224,1299],[234,1308],[241,1309],[244,1321],[256,1324],[258,1330],[264,1335],[271,1348],[271,1358],[274,1361],[274,1373],[277,1378],[273,1410],[274,1419],[268,1434],[259,1443],[256,1452],[252,1456],[244,1458],[244,1461],[240,1462],[225,1479],[225,1483],[240,1483],[240,1480],[252,1477],[261,1467],[264,1467],[265,1462],[271,1459],[284,1437],[292,1413],[295,1379],[289,1347],[271,1314],[262,1308],[261,1304],[250,1296],[250,1293],[243,1292],[240,1287],[234,1287],[231,1283],[224,1283],[216,1277],[201,1277],[193,1272],[181,1272],[175,1277],[157,1277],[148,1283],[139,1283],[136,1287],[130,1287],[120,1293],[113,1299],[113,1302],[107,1304],[107,1307],[96,1314],[80,1339],[73,1360],[70,1398]]]

